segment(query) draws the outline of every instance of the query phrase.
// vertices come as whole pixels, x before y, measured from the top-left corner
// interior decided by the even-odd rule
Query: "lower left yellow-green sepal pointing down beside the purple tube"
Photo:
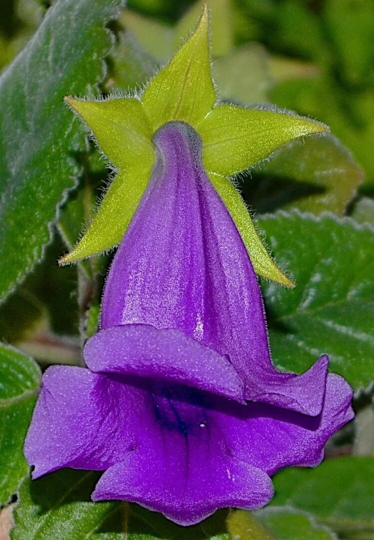
[[[120,171],[102,199],[91,225],[74,249],[59,260],[69,264],[120,244],[151,176],[153,163]]]

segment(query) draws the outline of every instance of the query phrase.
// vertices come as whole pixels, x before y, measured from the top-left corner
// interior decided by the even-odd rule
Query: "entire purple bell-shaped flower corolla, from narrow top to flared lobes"
[[[352,391],[321,356],[278,372],[246,247],[187,123],[153,138],[151,178],[110,267],[86,368],[52,366],[25,442],[33,478],[104,471],[94,501],[181,525],[262,507],[270,475],[314,467],[352,418]]]

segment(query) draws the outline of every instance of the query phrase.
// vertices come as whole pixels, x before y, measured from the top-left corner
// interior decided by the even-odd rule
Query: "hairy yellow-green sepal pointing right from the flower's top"
[[[198,125],[207,171],[233,176],[290,140],[323,133],[314,120],[262,109],[218,105]]]

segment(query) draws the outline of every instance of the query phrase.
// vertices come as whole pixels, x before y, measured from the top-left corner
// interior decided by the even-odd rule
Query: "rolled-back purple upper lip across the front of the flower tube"
[[[179,330],[114,326],[87,341],[84,358],[93,372],[179,382],[243,402],[243,382],[230,361]]]

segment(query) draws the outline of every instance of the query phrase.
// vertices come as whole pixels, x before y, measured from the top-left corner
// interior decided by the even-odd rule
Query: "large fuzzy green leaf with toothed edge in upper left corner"
[[[43,257],[56,206],[79,174],[73,153],[85,144],[63,97],[92,92],[102,78],[110,47],[103,23],[120,5],[53,3],[0,78],[0,299]]]

